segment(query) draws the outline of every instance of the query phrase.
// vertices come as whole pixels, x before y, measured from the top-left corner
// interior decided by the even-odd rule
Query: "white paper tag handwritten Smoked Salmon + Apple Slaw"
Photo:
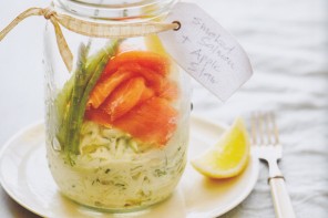
[[[166,22],[178,21],[177,31],[160,33],[173,59],[196,81],[226,101],[253,74],[238,42],[194,3],[177,3]]]

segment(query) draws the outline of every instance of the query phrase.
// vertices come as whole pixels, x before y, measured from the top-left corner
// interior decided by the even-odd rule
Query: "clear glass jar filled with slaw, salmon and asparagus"
[[[55,0],[58,13],[116,23],[161,21],[174,0]],[[60,191],[84,206],[124,212],[166,199],[186,165],[189,79],[157,35],[44,33],[47,156]]]

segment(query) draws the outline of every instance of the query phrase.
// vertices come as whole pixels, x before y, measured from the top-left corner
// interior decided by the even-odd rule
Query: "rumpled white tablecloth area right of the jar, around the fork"
[[[274,111],[297,217],[328,217],[328,1],[209,2],[199,4],[244,45],[254,76],[223,105],[196,84],[194,112],[230,123]],[[223,217],[275,217],[267,176],[263,165],[252,195]]]

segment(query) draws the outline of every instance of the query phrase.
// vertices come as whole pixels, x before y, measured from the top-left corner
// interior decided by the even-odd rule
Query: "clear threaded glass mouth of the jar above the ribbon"
[[[55,10],[84,19],[143,22],[165,17],[177,0],[53,0]]]

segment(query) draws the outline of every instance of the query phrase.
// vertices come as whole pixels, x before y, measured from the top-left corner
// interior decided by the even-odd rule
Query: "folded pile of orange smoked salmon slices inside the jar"
[[[171,105],[180,95],[168,75],[170,60],[148,51],[130,51],[111,59],[86,103],[85,118],[133,137],[164,146],[176,129],[178,113]]]

